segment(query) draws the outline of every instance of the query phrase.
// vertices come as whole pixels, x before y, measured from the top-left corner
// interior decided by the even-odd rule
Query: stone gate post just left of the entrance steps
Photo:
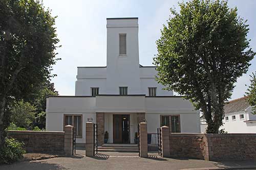
[[[86,156],[94,155],[93,123],[86,123]]]

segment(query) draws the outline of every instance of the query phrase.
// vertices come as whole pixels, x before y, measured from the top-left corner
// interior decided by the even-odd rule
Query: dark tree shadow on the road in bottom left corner
[[[27,169],[67,169],[59,164],[47,163],[47,162],[35,162],[24,161],[17,162],[11,165],[0,165],[0,169],[12,169],[12,170],[27,170]]]

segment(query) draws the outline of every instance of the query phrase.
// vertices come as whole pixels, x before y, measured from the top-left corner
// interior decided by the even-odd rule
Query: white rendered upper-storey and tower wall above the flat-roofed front
[[[107,19],[106,67],[78,67],[75,95],[91,95],[91,87],[99,94],[119,94],[119,87],[128,87],[128,94],[148,95],[148,87],[157,87],[157,95],[173,95],[162,90],[155,80],[155,67],[139,66],[138,19]],[[126,34],[126,56],[119,56],[119,34]]]

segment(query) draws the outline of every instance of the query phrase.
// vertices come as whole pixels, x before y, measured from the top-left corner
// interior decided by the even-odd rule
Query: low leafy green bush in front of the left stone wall
[[[0,164],[11,164],[21,158],[26,153],[23,148],[24,143],[18,142],[13,138],[5,138],[4,147],[0,148]]]

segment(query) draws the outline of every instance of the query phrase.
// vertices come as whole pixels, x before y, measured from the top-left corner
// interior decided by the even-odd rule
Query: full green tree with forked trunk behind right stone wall
[[[218,133],[224,102],[255,55],[246,37],[248,25],[226,1],[179,6],[179,13],[170,9],[172,16],[157,41],[157,80],[201,109],[207,133]]]

